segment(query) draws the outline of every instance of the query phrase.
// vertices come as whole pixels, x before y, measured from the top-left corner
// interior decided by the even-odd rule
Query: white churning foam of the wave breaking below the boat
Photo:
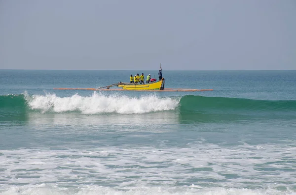
[[[160,98],[156,95],[145,97],[129,97],[126,95],[103,95],[94,92],[84,97],[75,94],[71,97],[58,97],[56,94],[25,94],[25,99],[32,110],[42,112],[81,111],[84,114],[96,113],[148,113],[153,111],[174,110],[179,104],[178,98]]]

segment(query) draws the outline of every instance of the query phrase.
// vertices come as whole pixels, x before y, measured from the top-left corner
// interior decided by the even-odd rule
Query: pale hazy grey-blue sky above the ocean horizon
[[[296,0],[0,0],[0,69],[296,69]]]

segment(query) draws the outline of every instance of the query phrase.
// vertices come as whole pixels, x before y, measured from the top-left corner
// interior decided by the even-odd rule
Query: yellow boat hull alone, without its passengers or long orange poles
[[[149,83],[149,84],[130,84],[130,83],[121,83],[117,85],[126,90],[163,90],[164,89],[164,78],[160,81]]]

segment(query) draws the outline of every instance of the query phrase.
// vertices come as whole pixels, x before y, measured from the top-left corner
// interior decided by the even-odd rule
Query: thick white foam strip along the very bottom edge
[[[138,187],[132,190],[123,189],[120,191],[93,185],[73,189],[41,184],[30,187],[12,187],[3,192],[0,191],[0,195],[296,195],[296,193],[292,190],[280,192],[273,189],[196,189],[194,185],[188,188]]]

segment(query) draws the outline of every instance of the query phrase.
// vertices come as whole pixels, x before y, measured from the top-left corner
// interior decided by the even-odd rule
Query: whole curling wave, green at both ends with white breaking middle
[[[27,112],[82,114],[143,114],[159,111],[173,111],[183,119],[240,120],[246,118],[296,117],[296,100],[251,100],[241,98],[203,97],[185,95],[182,97],[159,97],[149,95],[130,97],[127,95],[106,95],[94,92],[91,96],[75,94],[58,97],[56,94],[0,96],[0,116],[20,116]]]

